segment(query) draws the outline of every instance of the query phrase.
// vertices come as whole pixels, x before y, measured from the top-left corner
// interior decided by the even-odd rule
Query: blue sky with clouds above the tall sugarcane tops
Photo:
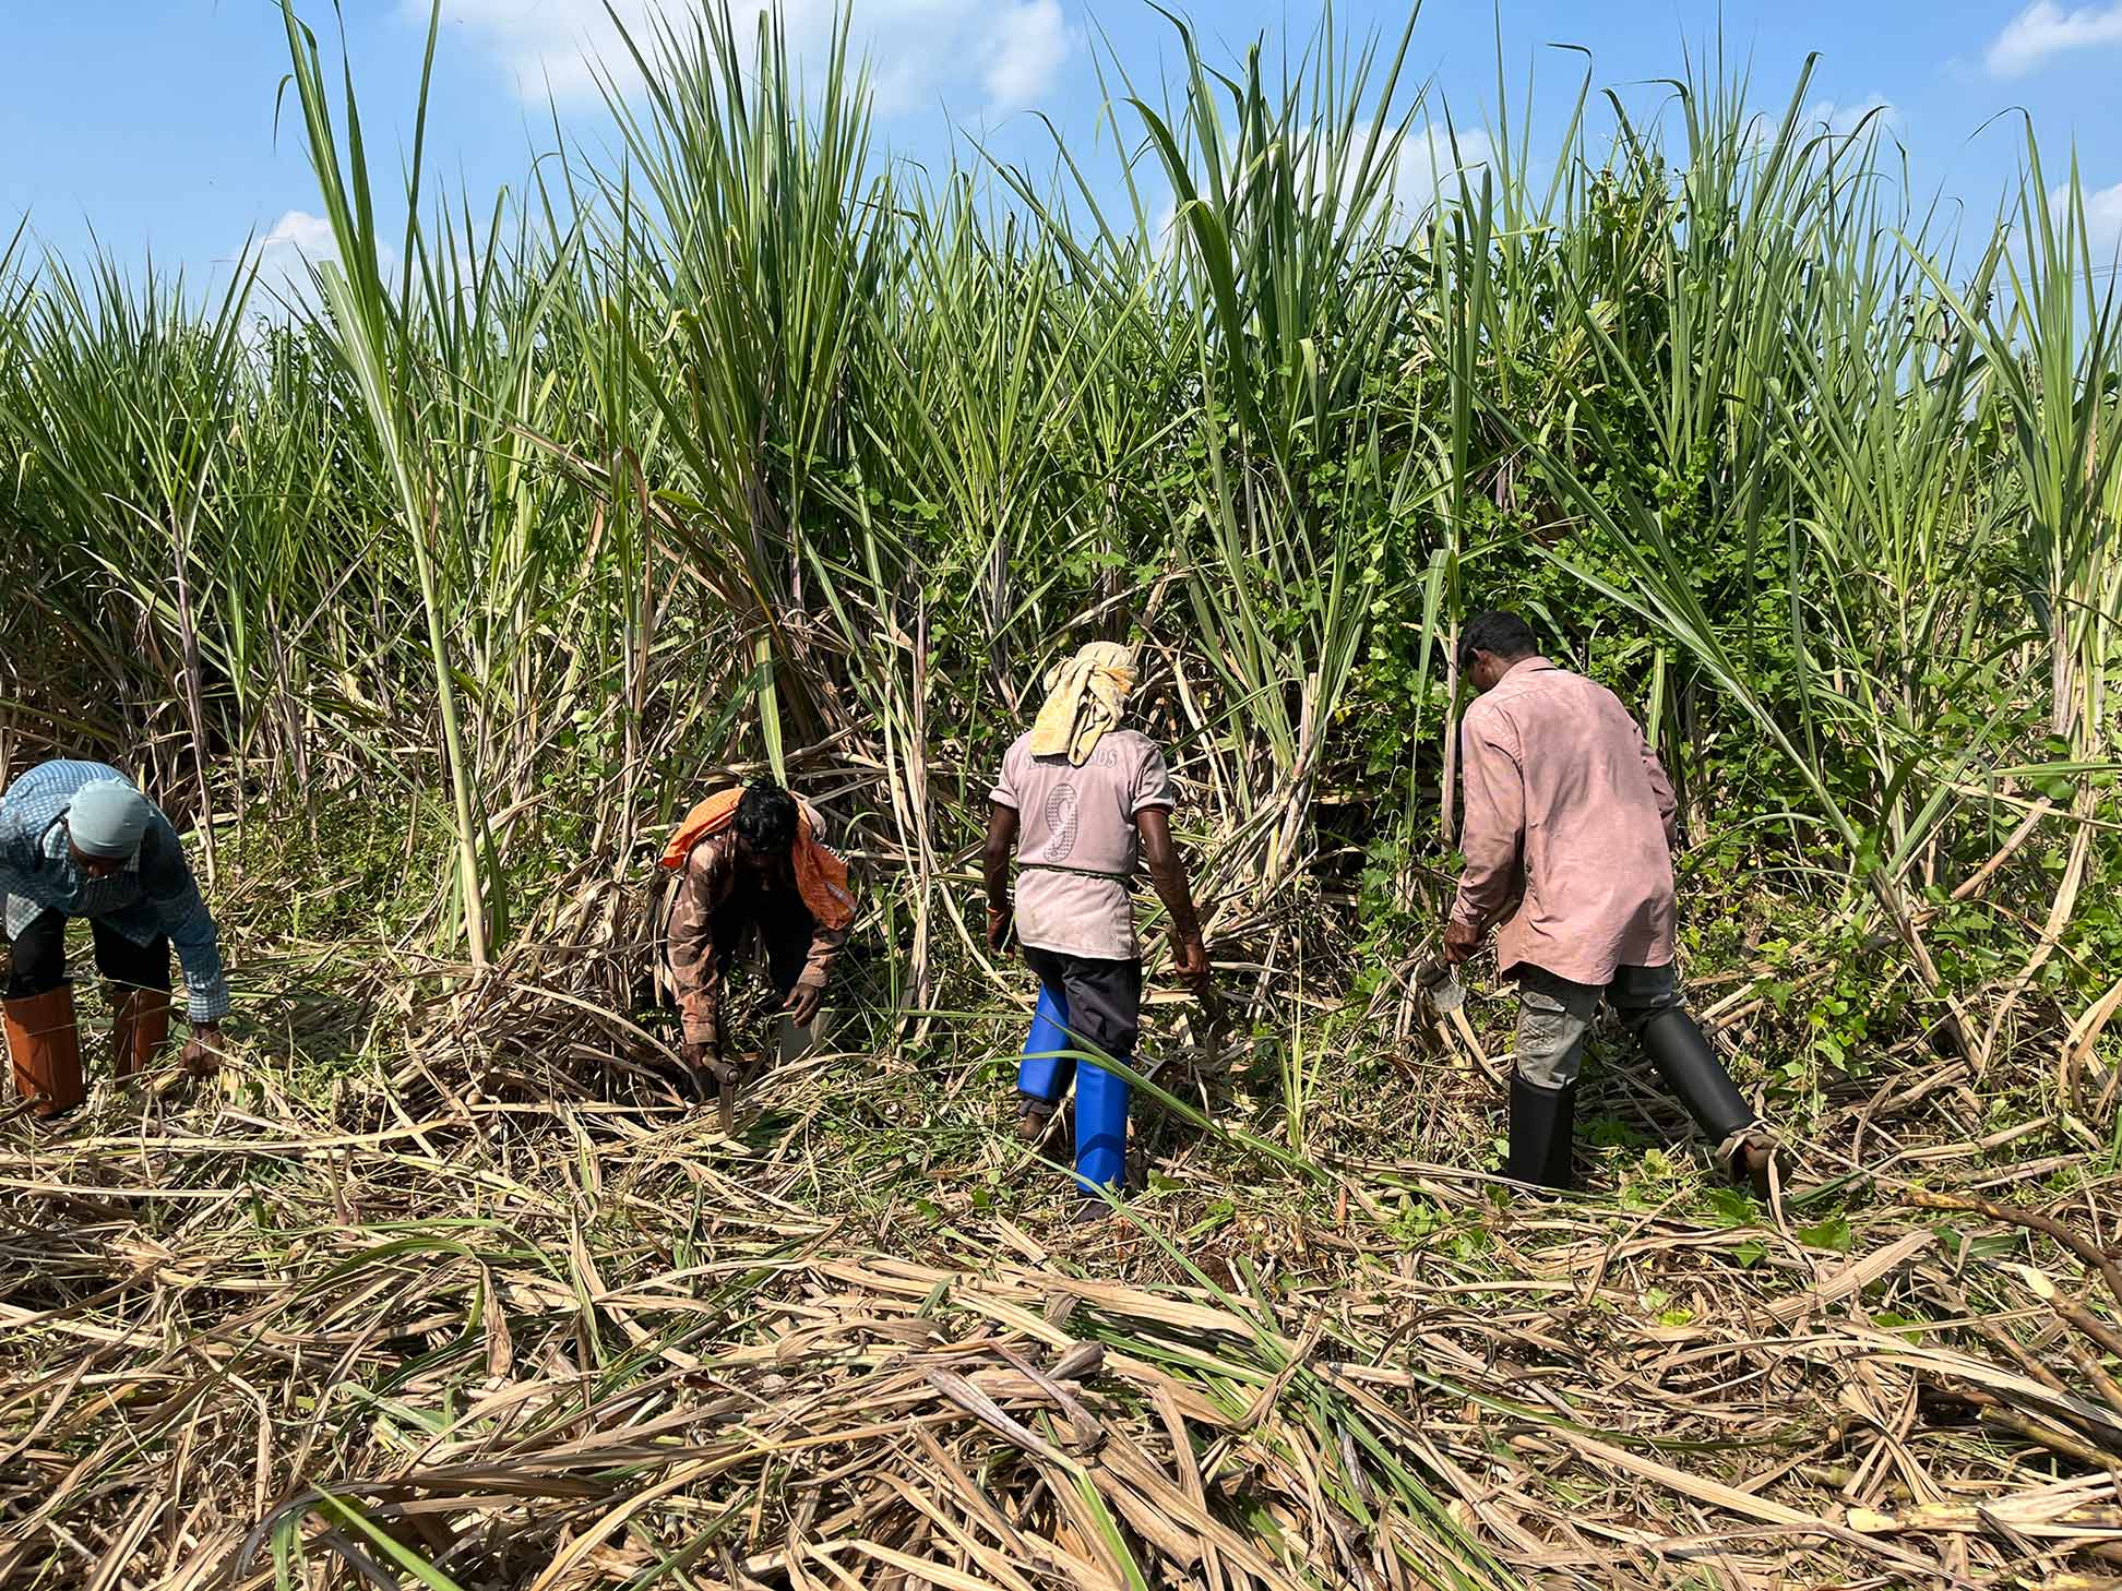
[[[371,140],[395,151],[418,81],[427,0],[342,0]],[[618,0],[624,15],[690,0]],[[749,0],[751,8],[758,0]],[[1254,34],[1309,32],[1318,8],[1201,2],[1201,32],[1241,49]],[[299,11],[331,28],[329,0]],[[800,42],[823,38],[830,0],[789,0]],[[1407,8],[1345,0],[1345,32],[1398,36]],[[2052,180],[2075,144],[2103,250],[2122,238],[2122,0],[1725,0],[1712,4],[1564,4],[1498,11],[1485,0],[1432,0],[1415,25],[1413,64],[1434,81],[1460,127],[1492,112],[1496,34],[1513,102],[1536,85],[1534,151],[1568,110],[1581,62],[1598,85],[1649,104],[1651,78],[1676,74],[1687,42],[1721,30],[1751,57],[1766,108],[1785,104],[1808,51],[1821,66],[1808,112],[1846,123],[1882,104],[1908,146],[1920,191],[1944,189],[1986,218],[2012,180],[2016,123],[1984,121],[2024,106]],[[1016,159],[1048,157],[1038,115],[1086,142],[1099,102],[1101,40],[1137,76],[1154,78],[1173,36],[1142,0],[855,0],[881,85],[881,134],[895,153],[936,161],[953,129],[972,129]],[[327,34],[329,36],[329,34]],[[272,0],[0,0],[0,223],[30,216],[34,233],[76,255],[91,235],[121,261],[153,255],[195,278],[225,269],[246,238],[314,246],[320,223],[299,146],[299,119],[274,127],[286,45]],[[431,170],[490,197],[518,185],[552,146],[552,104],[588,138],[601,112],[588,59],[611,47],[603,0],[443,0],[431,123]],[[552,100],[547,98],[552,95]],[[1432,98],[1434,106],[1434,98]]]

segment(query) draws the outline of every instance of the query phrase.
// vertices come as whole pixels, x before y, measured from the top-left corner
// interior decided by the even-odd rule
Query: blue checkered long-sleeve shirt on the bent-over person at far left
[[[19,938],[45,912],[89,916],[134,944],[170,936],[185,965],[193,1022],[219,1022],[229,1010],[221,974],[221,936],[185,863],[185,844],[159,810],[132,861],[108,878],[89,878],[68,844],[66,808],[98,779],[123,779],[100,762],[45,762],[0,796],[0,899],[6,936]]]

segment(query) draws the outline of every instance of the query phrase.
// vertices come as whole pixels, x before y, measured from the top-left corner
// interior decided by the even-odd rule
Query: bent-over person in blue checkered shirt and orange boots
[[[81,1031],[66,982],[66,923],[89,921],[110,984],[115,1071],[144,1069],[170,1037],[170,946],[185,965],[185,1065],[212,1071],[229,986],[221,933],[170,819],[117,768],[47,762],[0,796],[6,914],[6,1048],[15,1088],[45,1116],[85,1097]]]

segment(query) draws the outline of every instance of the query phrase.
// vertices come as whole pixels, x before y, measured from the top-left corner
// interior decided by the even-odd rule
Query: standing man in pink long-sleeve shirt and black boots
[[[1481,692],[1460,728],[1466,872],[1443,959],[1490,925],[1517,982],[1517,1071],[1504,1173],[1570,1186],[1577,1073],[1604,1001],[1736,1179],[1766,1190],[1774,1143],[1681,999],[1672,965],[1672,783],[1604,685],[1547,662],[1515,613],[1460,632]]]

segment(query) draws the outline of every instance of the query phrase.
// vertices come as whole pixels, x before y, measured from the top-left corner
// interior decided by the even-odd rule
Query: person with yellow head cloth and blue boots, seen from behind
[[[1010,747],[989,796],[987,942],[1014,936],[1040,976],[1038,1016],[1016,1073],[1019,1133],[1046,1129],[1076,1080],[1076,1186],[1082,1216],[1127,1182],[1127,1082],[1061,1054],[1091,1048],[1131,1063],[1142,1020],[1133,878],[1146,863],[1171,912],[1178,974],[1207,978],[1186,868],[1171,844],[1171,774],[1156,745],[1118,728],[1135,685],[1133,653],[1093,643],[1048,679],[1038,721]],[[1016,902],[1010,902],[1010,853]]]

